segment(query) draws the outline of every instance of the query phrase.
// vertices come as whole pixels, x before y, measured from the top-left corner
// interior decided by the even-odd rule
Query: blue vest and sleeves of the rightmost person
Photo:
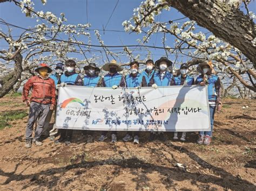
[[[203,75],[199,75],[196,80],[196,84],[203,81]],[[208,75],[208,101],[220,102],[221,100],[221,87],[220,79],[217,75]]]

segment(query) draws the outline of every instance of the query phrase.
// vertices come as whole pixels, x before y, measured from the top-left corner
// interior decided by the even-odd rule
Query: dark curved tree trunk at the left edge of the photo
[[[14,85],[18,81],[18,79],[21,78],[22,74],[22,55],[21,53],[18,53],[15,56],[15,68],[14,71],[12,71],[8,75],[8,79],[4,79],[4,83],[2,85],[2,88],[0,88],[0,98],[3,97],[5,94],[9,93],[9,91],[14,88]],[[5,76],[6,77],[6,76]]]

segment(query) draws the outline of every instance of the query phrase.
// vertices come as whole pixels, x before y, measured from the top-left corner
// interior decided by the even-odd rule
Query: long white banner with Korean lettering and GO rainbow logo
[[[208,131],[207,87],[59,89],[56,125],[62,129]]]

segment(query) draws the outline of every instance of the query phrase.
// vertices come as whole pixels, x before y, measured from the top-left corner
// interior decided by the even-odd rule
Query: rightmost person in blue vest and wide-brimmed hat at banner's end
[[[200,63],[197,66],[197,70],[200,75],[196,79],[196,84],[200,84],[201,86],[207,86],[208,89],[208,102],[210,105],[211,121],[211,130],[200,131],[197,143],[210,145],[212,140],[215,109],[217,108],[217,110],[220,111],[222,107],[220,79],[217,74],[215,74],[211,61],[205,61],[203,63]]]

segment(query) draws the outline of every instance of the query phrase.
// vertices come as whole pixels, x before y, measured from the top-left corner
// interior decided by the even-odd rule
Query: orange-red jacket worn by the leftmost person
[[[43,79],[40,75],[30,77],[23,87],[23,102],[29,100],[29,90],[32,88],[30,101],[55,105],[55,83],[50,77]]]

